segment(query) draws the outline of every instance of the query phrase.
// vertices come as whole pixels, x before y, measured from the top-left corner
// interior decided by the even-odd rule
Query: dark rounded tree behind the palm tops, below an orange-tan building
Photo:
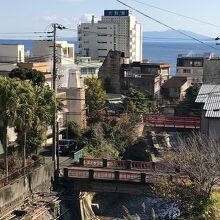
[[[16,68],[9,73],[10,78],[30,81],[33,85],[44,85],[45,74],[35,69]]]

